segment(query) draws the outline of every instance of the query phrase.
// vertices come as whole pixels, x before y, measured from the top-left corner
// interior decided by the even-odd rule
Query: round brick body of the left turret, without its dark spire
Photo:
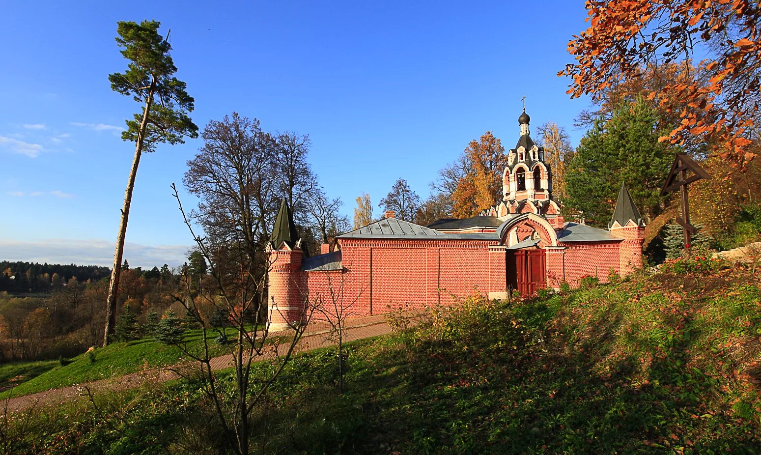
[[[282,330],[301,323],[304,317],[304,298],[307,294],[301,268],[301,250],[272,250],[269,282],[269,329]]]

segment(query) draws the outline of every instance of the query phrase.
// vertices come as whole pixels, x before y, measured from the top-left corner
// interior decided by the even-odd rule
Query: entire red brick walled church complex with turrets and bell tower
[[[480,215],[428,226],[387,217],[336,237],[320,254],[301,249],[293,217],[281,208],[270,245],[269,310],[274,329],[298,323],[310,304],[348,306],[344,316],[398,307],[457,304],[474,292],[533,294],[584,275],[607,281],[642,266],[645,224],[621,186],[607,230],[566,222],[552,200],[552,170],[533,143],[530,118],[508,151],[502,198]]]

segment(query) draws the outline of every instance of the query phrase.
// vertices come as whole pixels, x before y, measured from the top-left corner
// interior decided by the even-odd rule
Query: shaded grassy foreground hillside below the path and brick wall
[[[252,438],[266,453],[761,453],[759,281],[700,261],[702,272],[437,309],[350,345],[342,395],[334,350],[300,355]],[[35,441],[209,453],[224,438],[198,390],[114,399]]]

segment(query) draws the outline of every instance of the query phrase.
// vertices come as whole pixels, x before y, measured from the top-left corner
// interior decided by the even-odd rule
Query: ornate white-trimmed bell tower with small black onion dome
[[[544,162],[544,148],[533,143],[529,131],[531,117],[518,117],[521,137],[508,152],[508,167],[502,180],[502,200],[505,202],[546,201],[552,199],[552,175]]]

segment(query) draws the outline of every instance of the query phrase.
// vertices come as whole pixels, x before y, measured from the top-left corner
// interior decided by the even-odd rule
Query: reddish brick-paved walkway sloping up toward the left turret
[[[307,326],[304,335],[301,336],[295,347],[295,352],[307,352],[313,349],[325,348],[336,345],[330,339],[331,328],[328,323],[312,323]],[[383,316],[356,317],[346,320],[344,329],[344,342],[351,342],[357,339],[371,338],[373,336],[386,335],[391,332],[391,328],[386,323]],[[287,332],[270,333],[270,336],[286,335]],[[280,345],[279,352],[283,354],[288,348],[287,345]],[[269,356],[265,356],[269,357]],[[222,370],[233,366],[232,355],[221,355],[212,358],[212,370]],[[85,387],[91,390],[93,395],[99,393],[119,392],[141,387],[149,381],[164,382],[167,380],[177,379],[180,376],[173,370],[179,367],[190,367],[193,364],[174,365],[170,368],[157,368],[141,373],[126,374],[125,376],[113,377],[110,379],[95,380],[89,383],[75,384],[61,389],[47,390],[46,392],[33,393],[31,395],[17,396],[0,402],[0,415],[7,412],[21,412],[25,409],[37,406],[56,406],[60,403],[75,402],[78,400],[87,400],[82,396]]]

